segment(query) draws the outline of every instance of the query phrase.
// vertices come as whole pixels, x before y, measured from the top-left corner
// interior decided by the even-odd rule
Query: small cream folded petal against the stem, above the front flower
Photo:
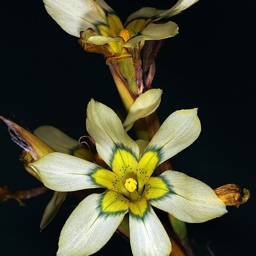
[[[135,121],[152,114],[158,108],[162,93],[161,89],[151,89],[134,101],[123,123],[125,131],[129,131]]]

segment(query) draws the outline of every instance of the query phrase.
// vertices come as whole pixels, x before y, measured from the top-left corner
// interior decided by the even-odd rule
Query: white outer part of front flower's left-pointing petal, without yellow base
[[[55,191],[75,191],[102,187],[91,177],[96,164],[63,153],[50,153],[30,164],[47,188]]]

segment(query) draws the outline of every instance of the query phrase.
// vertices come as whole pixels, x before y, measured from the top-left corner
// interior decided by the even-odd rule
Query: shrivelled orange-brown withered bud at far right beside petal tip
[[[215,194],[226,204],[239,207],[250,198],[250,191],[246,188],[242,190],[236,184],[227,184],[214,189]]]

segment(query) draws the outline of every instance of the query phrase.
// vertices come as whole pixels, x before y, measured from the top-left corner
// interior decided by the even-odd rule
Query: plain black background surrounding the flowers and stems
[[[142,6],[167,9],[175,1],[107,1],[123,20]],[[173,111],[199,108],[202,132],[172,161],[174,169],[212,188],[237,183],[251,190],[239,209],[201,224],[189,224],[196,255],[250,255],[255,230],[255,3],[199,1],[172,18],[179,34],[167,40],[156,60],[153,86],[163,89],[161,121]],[[89,100],[113,109],[122,106],[113,79],[99,54],[84,52],[46,13],[42,1],[1,5],[0,114],[28,127],[53,125],[78,139],[86,134]],[[29,189],[40,185],[22,167],[20,148],[0,124],[0,185]],[[55,255],[58,237],[73,206],[68,199],[54,221],[39,233],[51,193],[20,207],[0,205],[1,255]],[[119,251],[119,250],[121,251]],[[95,255],[131,255],[118,235]]]

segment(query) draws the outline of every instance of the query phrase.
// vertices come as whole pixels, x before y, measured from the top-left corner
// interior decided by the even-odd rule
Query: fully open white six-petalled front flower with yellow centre
[[[97,252],[128,212],[133,255],[169,255],[170,239],[151,205],[186,222],[227,212],[209,186],[186,174],[169,170],[151,177],[159,164],[196,140],[201,131],[197,109],[175,111],[149,143],[133,141],[114,111],[94,100],[87,106],[86,127],[109,170],[62,153],[30,165],[53,190],[107,188],[87,196],[71,213],[60,234],[58,256]]]

